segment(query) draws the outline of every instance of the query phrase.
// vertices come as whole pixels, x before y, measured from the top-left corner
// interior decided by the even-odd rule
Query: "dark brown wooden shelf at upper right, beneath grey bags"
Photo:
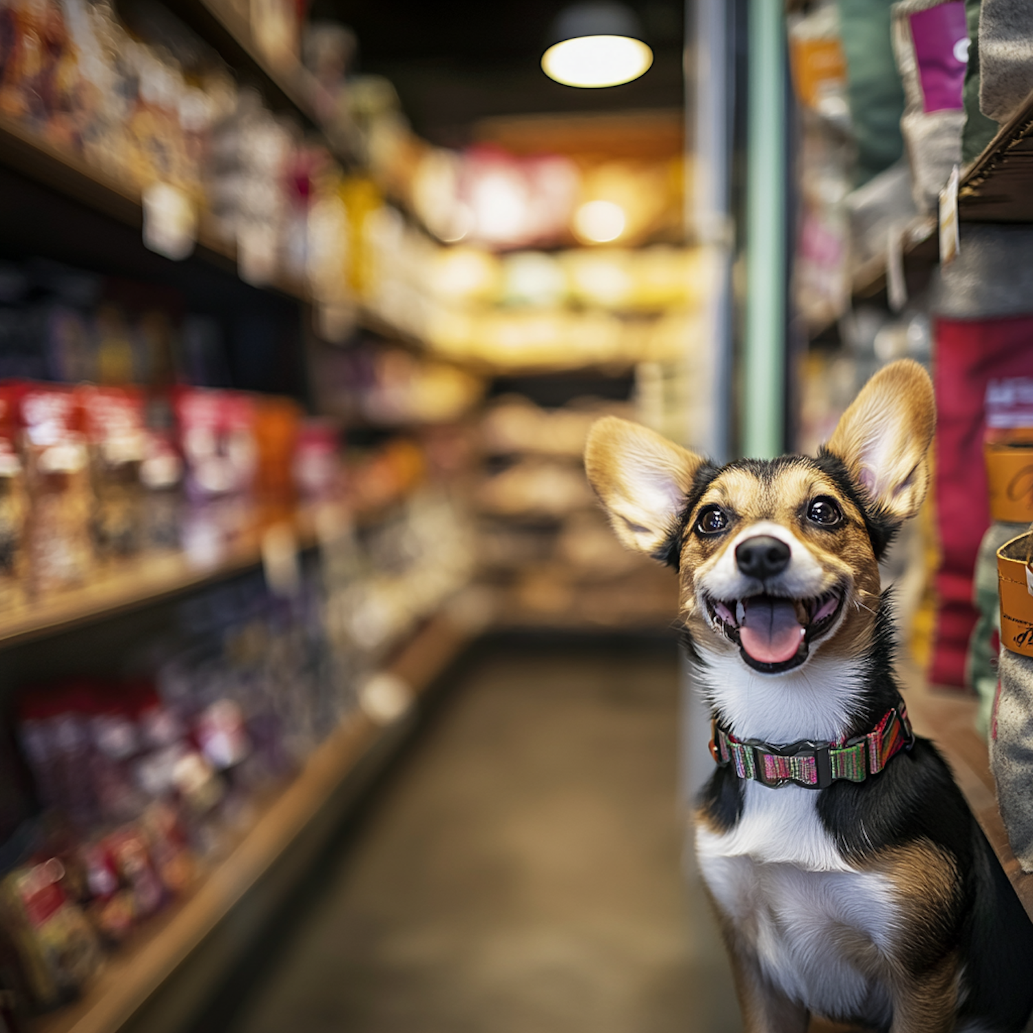
[[[962,174],[963,222],[1033,222],[1033,93]]]

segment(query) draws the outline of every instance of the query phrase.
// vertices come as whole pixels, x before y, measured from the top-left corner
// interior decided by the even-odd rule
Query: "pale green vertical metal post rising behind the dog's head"
[[[779,0],[750,0],[747,95],[746,456],[782,451],[785,425],[785,24]]]

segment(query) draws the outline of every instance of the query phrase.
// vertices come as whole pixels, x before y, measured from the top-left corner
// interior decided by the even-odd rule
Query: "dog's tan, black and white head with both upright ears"
[[[868,382],[816,459],[716,468],[606,417],[585,462],[618,537],[679,570],[697,648],[780,675],[870,641],[878,561],[926,497],[935,422],[929,375],[904,361]]]

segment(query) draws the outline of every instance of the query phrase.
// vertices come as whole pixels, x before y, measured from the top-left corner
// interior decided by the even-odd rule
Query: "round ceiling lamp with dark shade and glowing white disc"
[[[541,56],[542,70],[564,86],[598,89],[630,83],[653,63],[638,20],[621,3],[580,3],[561,11]]]

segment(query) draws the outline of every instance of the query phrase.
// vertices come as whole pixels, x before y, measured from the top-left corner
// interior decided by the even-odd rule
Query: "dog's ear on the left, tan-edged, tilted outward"
[[[646,427],[616,416],[592,425],[585,446],[588,479],[617,537],[656,559],[670,537],[703,460]]]

